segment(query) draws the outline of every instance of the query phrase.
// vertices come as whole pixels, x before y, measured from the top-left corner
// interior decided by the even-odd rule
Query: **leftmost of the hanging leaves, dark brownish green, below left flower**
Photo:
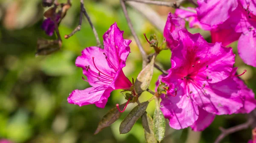
[[[119,108],[122,110],[125,107],[125,104],[120,105]],[[112,123],[118,120],[120,116],[121,116],[121,112],[118,111],[117,107],[110,109],[107,112],[107,114],[102,117],[96,131],[94,132],[94,135],[98,134],[105,127],[110,126]]]

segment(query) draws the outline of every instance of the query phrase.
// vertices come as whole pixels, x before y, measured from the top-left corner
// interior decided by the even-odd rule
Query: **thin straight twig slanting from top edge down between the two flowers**
[[[123,0],[120,0],[120,4],[121,4],[121,7],[122,7],[122,10],[125,14],[125,19],[128,23],[128,26],[131,30],[131,34],[134,36],[134,39],[135,39],[135,42],[137,43],[138,47],[139,47],[139,50],[140,50],[140,53],[142,55],[142,58],[143,58],[143,67],[146,66],[147,62],[148,62],[148,58],[147,58],[147,54],[145,52],[145,50],[143,49],[141,43],[140,43],[140,39],[138,38],[136,32],[134,31],[134,28],[133,28],[133,25],[131,23],[131,20],[129,18],[129,15],[128,15],[128,12],[127,12],[127,9],[126,9],[126,6],[125,6],[125,2]]]

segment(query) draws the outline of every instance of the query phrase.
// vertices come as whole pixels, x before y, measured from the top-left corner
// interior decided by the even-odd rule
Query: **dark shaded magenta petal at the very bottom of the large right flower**
[[[198,120],[190,126],[193,131],[203,131],[205,128],[210,126],[212,121],[215,118],[215,115],[209,112],[204,111],[202,108],[198,107],[199,116]]]

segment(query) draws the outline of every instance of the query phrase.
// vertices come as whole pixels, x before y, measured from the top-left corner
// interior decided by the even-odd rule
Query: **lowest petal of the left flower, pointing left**
[[[89,87],[85,90],[74,90],[67,98],[68,103],[81,106],[95,104],[99,108],[104,108],[108,97],[113,89],[101,87]]]

